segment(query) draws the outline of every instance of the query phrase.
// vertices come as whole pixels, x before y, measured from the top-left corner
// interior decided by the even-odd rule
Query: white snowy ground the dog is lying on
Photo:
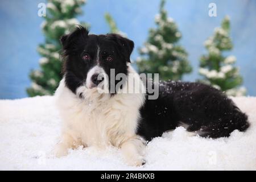
[[[256,170],[256,97],[233,99],[249,115],[246,133],[229,138],[189,137],[183,127],[155,138],[146,148],[146,165],[129,167],[120,151],[109,147],[70,150],[63,158],[51,151],[60,133],[53,97],[0,101],[0,169],[151,170],[220,169]]]

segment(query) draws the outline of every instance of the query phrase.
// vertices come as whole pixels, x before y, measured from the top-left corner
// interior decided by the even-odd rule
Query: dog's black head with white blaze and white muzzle
[[[118,34],[93,35],[79,26],[71,34],[60,39],[63,46],[63,73],[65,84],[77,94],[77,88],[95,89],[108,76],[108,89],[117,81],[110,81],[110,70],[114,76],[127,75],[127,62],[134,48],[133,41]],[[106,81],[106,80],[105,80]]]

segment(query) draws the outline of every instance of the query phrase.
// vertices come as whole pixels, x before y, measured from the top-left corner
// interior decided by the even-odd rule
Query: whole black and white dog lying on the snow
[[[249,127],[246,114],[232,100],[204,84],[160,82],[156,100],[149,100],[144,92],[120,93],[139,90],[141,82],[130,65],[134,43],[129,39],[117,34],[88,35],[80,26],[64,35],[61,43],[64,76],[55,96],[63,126],[56,156],[80,145],[113,145],[121,148],[128,164],[141,166],[146,140],[177,126],[211,138],[228,137],[233,130]],[[126,76],[125,84],[114,92],[99,92],[102,82],[108,90],[118,84],[110,79],[111,69],[114,76]],[[131,80],[135,84],[128,84]],[[141,90],[147,90],[146,86],[142,84]]]

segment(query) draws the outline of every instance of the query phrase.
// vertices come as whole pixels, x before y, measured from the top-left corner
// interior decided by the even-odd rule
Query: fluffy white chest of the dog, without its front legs
[[[64,84],[63,81],[61,84]],[[135,134],[141,105],[138,102],[142,102],[141,98],[137,98],[139,95],[120,94],[114,98],[107,95],[108,98],[104,98],[95,94],[89,97],[93,100],[81,100],[61,84],[56,97],[64,121],[63,131],[68,131],[77,143],[119,146]]]

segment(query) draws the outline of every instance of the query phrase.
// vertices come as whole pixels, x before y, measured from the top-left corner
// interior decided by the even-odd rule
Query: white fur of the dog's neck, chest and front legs
[[[127,76],[127,81],[141,81],[130,64],[128,67],[128,73],[133,74]],[[123,89],[129,90],[127,86],[129,84],[125,84]],[[63,120],[61,139],[55,148],[56,156],[67,155],[68,148],[80,145],[113,145],[121,148],[128,164],[141,166],[145,142],[136,135],[136,130],[139,108],[145,100],[144,92],[118,93],[110,97],[110,94],[100,94],[97,88],[88,89],[85,85],[80,86],[77,93],[82,93],[84,98],[72,93],[65,86],[64,78],[56,90],[57,107]]]

